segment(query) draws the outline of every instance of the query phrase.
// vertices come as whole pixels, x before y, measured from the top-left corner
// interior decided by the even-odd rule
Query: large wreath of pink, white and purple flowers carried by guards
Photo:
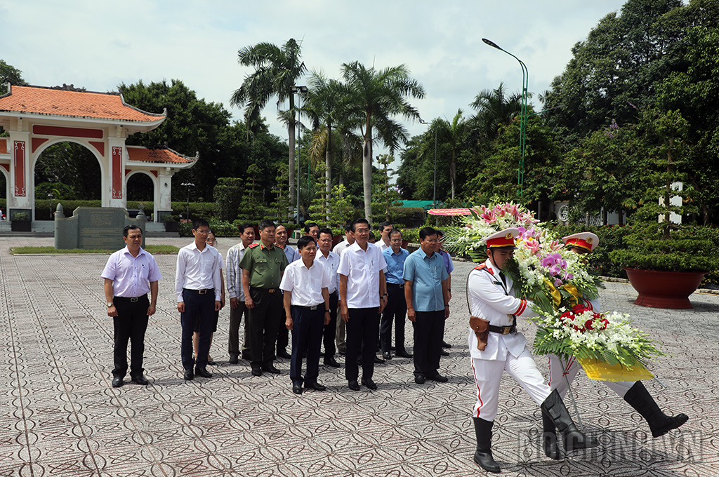
[[[484,261],[482,238],[505,228],[519,229],[514,258],[503,272],[513,280],[517,295],[532,300],[539,313],[531,318],[539,327],[536,353],[624,367],[644,367],[651,356],[661,355],[646,333],[631,328],[628,315],[595,313],[585,306],[598,297],[597,288],[603,288],[599,277],[592,276],[582,256],[551,236],[526,208],[505,203],[470,211],[462,226],[447,230],[445,246]]]

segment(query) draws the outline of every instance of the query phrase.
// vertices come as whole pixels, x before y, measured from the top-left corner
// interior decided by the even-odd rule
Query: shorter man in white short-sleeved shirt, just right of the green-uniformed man
[[[285,268],[280,283],[285,305],[285,325],[292,330],[292,358],[290,379],[292,392],[302,394],[306,388],[324,391],[317,382],[319,376],[319,348],[324,326],[329,323],[329,274],[315,260],[317,246],[314,238],[303,236],[297,241],[301,259]],[[302,377],[302,355],[307,354],[307,373]]]

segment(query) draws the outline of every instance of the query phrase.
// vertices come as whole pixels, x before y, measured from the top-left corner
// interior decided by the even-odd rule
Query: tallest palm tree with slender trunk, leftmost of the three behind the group
[[[290,86],[307,70],[300,59],[300,45],[290,38],[282,47],[272,43],[257,43],[237,52],[240,65],[252,66],[255,73],[244,78],[242,85],[232,93],[232,106],[245,106],[244,119],[248,131],[256,131],[260,112],[267,101],[277,96],[278,108],[286,99],[290,100],[290,117],[287,121],[289,136],[289,182],[290,204],[295,196],[295,96]],[[290,205],[290,216],[292,207]]]

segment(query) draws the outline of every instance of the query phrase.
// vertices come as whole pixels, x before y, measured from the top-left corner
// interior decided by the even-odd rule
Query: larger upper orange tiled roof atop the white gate
[[[155,122],[166,116],[129,106],[116,94],[37,86],[12,86],[9,93],[0,96],[0,111],[134,122]]]

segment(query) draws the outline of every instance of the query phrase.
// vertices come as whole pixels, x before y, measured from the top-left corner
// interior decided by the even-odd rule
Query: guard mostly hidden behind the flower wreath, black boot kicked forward
[[[599,245],[599,237],[591,232],[574,233],[562,238],[567,248],[576,254],[589,254]],[[586,300],[585,304],[594,312],[600,312],[599,300]],[[564,398],[567,394],[569,385],[577,376],[579,365],[575,358],[569,358],[567,363],[562,363],[559,356],[549,355],[549,388],[557,389],[559,396]],[[659,406],[651,397],[641,381],[602,381],[609,389],[622,397],[631,407],[644,417],[649,424],[652,437],[659,437],[666,434],[672,429],[684,424],[689,420],[685,414],[679,413],[676,416],[667,416],[659,409]],[[551,439],[554,435],[554,423],[544,420],[544,451],[546,455],[558,455],[558,451],[551,447],[551,443],[556,443],[556,439]],[[552,455],[550,455],[552,454]]]

